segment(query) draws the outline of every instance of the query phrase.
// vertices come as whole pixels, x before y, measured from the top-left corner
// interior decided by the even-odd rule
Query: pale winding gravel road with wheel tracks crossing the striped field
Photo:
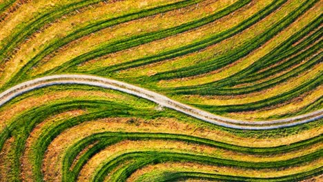
[[[19,94],[23,94],[24,92],[28,92],[37,88],[43,88],[49,85],[60,84],[93,85],[101,88],[119,90],[121,92],[133,94],[137,97],[148,99],[163,107],[177,110],[191,117],[195,117],[209,123],[222,125],[227,128],[236,128],[242,130],[269,130],[274,128],[284,128],[301,123],[308,123],[323,118],[322,109],[297,117],[270,121],[242,121],[229,119],[226,117],[220,117],[215,114],[211,114],[210,112],[206,112],[204,110],[193,108],[184,103],[179,103],[177,101],[174,101],[173,99],[165,97],[164,95],[157,94],[156,92],[152,92],[144,88],[139,88],[135,85],[85,74],[57,74],[20,83],[0,94],[0,107],[4,103],[10,101],[14,97],[17,97]]]

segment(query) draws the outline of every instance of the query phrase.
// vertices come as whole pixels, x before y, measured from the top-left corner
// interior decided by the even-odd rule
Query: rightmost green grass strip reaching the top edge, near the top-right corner
[[[214,59],[211,59],[209,61],[202,61],[201,63],[196,63],[195,65],[190,65],[185,68],[157,73],[153,77],[157,80],[192,77],[199,74],[206,74],[213,70],[222,68],[229,63],[233,63],[238,59],[241,59],[242,57],[250,54],[253,50],[260,48],[261,45],[264,45],[264,43],[266,43],[270,39],[273,39],[276,34],[284,30],[286,26],[293,23],[298,17],[302,16],[302,14],[312,8],[315,3],[317,3],[316,0],[304,1],[304,3],[302,3],[296,10],[290,12],[288,16],[273,24],[273,26],[271,26],[271,28],[268,28],[265,32],[253,39],[244,42],[238,48],[228,51],[226,52],[226,54],[221,55],[220,57],[215,57]],[[322,17],[320,19],[320,22],[322,22]],[[317,28],[318,26],[320,26],[320,23],[317,23],[317,21],[315,21],[315,28]]]

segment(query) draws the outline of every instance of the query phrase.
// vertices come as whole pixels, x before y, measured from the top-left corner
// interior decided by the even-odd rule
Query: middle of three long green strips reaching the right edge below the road
[[[271,168],[286,168],[292,165],[300,165],[315,159],[322,157],[322,151],[313,152],[306,156],[300,156],[294,159],[288,159],[286,161],[274,161],[274,162],[245,162],[234,161],[230,159],[218,159],[213,156],[204,156],[200,154],[190,154],[184,152],[169,152],[169,151],[144,151],[144,152],[128,152],[120,154],[113,159],[106,161],[106,163],[97,170],[94,175],[93,181],[103,181],[107,174],[112,172],[117,166],[124,161],[136,160],[137,168],[131,168],[132,170],[124,175],[115,176],[115,180],[127,179],[130,174],[135,172],[139,168],[143,168],[148,164],[165,163],[165,162],[194,162],[203,163],[207,165],[223,165],[235,168],[248,168],[248,169],[271,169]],[[127,166],[126,166],[127,168]],[[128,168],[129,169],[129,168]]]

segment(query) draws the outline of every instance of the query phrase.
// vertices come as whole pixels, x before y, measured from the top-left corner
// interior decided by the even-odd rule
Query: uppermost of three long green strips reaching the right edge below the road
[[[213,141],[210,139],[203,139],[197,136],[188,136],[184,134],[166,134],[166,133],[140,133],[140,132],[102,132],[97,134],[92,134],[81,141],[78,141],[70,148],[68,148],[66,154],[63,158],[63,181],[68,181],[68,179],[77,178],[82,166],[86,163],[88,159],[94,156],[100,150],[103,150],[108,145],[113,145],[117,142],[124,140],[169,140],[171,141],[184,141],[188,143],[197,143],[199,145],[208,145],[214,148],[222,148],[224,150],[233,150],[236,152],[246,152],[248,154],[276,154],[280,152],[291,152],[293,150],[300,150],[309,145],[314,145],[317,142],[322,141],[323,136],[317,136],[315,138],[300,141],[297,143],[292,143],[290,145],[280,145],[274,148],[248,148],[241,147],[237,145],[231,145],[228,143],[222,143],[219,141]],[[75,164],[75,167],[70,170],[70,167],[75,161],[76,156],[81,152],[86,146],[99,141],[97,145],[90,148],[82,156],[79,157],[79,160]],[[35,149],[37,151],[39,149]]]

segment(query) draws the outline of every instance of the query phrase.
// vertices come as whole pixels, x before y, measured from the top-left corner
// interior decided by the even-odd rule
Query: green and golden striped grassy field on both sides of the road
[[[1,4],[0,13],[5,12],[10,3],[12,1]],[[144,30],[144,33],[121,39],[116,36],[115,41],[103,40],[90,51],[75,54],[76,57],[64,60],[55,68],[34,74],[35,65],[41,69],[48,57],[59,54],[60,48],[68,50],[85,38],[91,41],[88,35],[92,32],[131,25],[147,17],[153,21],[163,13],[198,7],[200,3],[202,1],[174,1],[130,10],[113,18],[82,22],[61,39],[43,37],[46,41],[38,52],[28,53],[27,49],[19,52],[22,55],[26,51],[31,56],[21,62],[21,69],[19,65],[17,72],[12,72],[6,66],[17,59],[18,53],[13,50],[28,45],[28,37],[35,41],[36,30],[46,29],[48,23],[62,16],[77,17],[72,13],[75,10],[84,10],[90,5],[100,8],[102,4],[99,1],[64,2],[35,17],[27,16],[28,22],[12,27],[10,34],[5,32],[9,36],[1,39],[1,70],[9,70],[12,75],[1,81],[6,85],[0,90],[46,74],[81,72],[122,79],[175,99],[181,98],[210,112],[232,117],[237,114],[242,119],[244,113],[254,116],[253,119],[282,118],[322,108],[322,94],[317,94],[322,90],[323,78],[322,16],[317,14],[320,1],[315,0],[271,1],[243,21],[236,19],[236,26],[217,33],[206,31],[205,37],[199,39],[199,29],[224,26],[222,21],[230,22],[235,13],[247,12],[255,5],[253,1],[236,1],[223,10],[199,15],[172,27],[152,32]],[[18,14],[19,9],[15,13]],[[9,22],[17,15],[8,16]],[[271,22],[268,26],[263,25],[268,22]],[[52,27],[58,25],[55,22]],[[132,49],[140,50],[141,46],[145,48],[145,45],[186,35],[192,35],[191,40],[187,39],[183,45],[181,41],[166,44],[161,52],[108,66],[79,69],[79,65],[96,59],[127,54]],[[193,39],[194,36],[197,38]],[[232,47],[223,50],[216,47],[237,38],[242,41]],[[273,43],[277,44],[270,47]],[[268,52],[262,52],[263,47]],[[213,51],[218,54],[212,55]],[[199,57],[204,53],[207,56],[202,61],[185,65],[185,61],[192,59],[190,56]],[[253,55],[259,59],[231,73],[231,66],[243,65]],[[137,68],[155,68],[159,63],[174,60],[183,63],[157,74],[134,73]],[[219,70],[228,75],[214,79],[212,75],[217,75]],[[123,74],[128,76],[122,77]],[[199,78],[203,82],[198,82]],[[185,79],[185,86],[178,86],[181,79]],[[161,85],[172,81],[175,83],[172,87]],[[298,101],[307,98],[311,99],[310,103]],[[221,103],[221,99],[228,99],[227,104]],[[297,103],[303,105],[293,106]],[[270,112],[277,108],[286,112]],[[0,117],[0,177],[6,181],[43,181],[44,178],[49,181],[126,181],[128,178],[137,181],[296,181],[322,174],[322,119],[291,128],[246,132],[204,123],[174,110],[159,110],[155,103],[128,94],[84,85],[56,85],[22,94],[1,106]],[[174,167],[167,169],[168,164]],[[144,172],[146,168],[154,170]],[[213,170],[215,168],[217,170]],[[244,171],[248,172],[243,174]]]

